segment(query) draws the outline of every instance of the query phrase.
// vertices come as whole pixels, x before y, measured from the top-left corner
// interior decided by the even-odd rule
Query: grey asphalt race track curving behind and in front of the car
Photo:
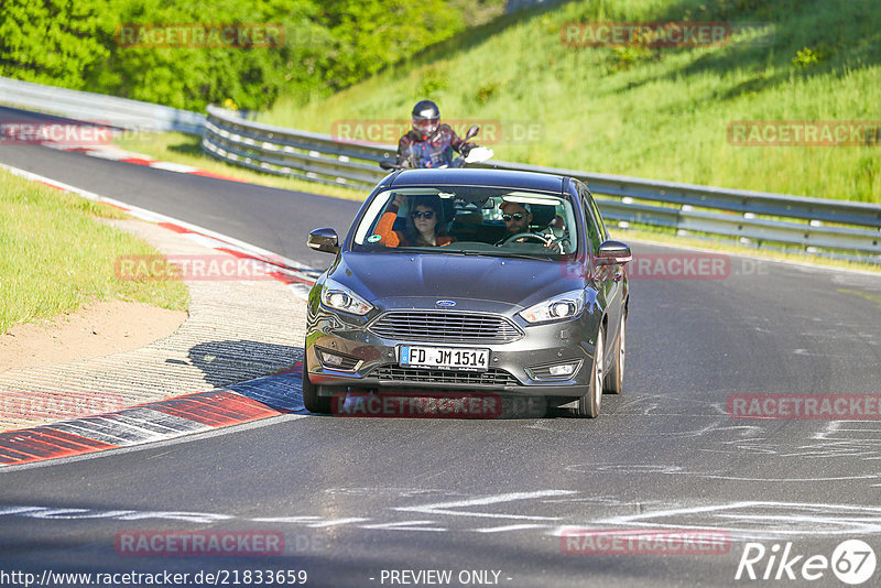
[[[357,208],[35,146],[0,146],[0,161],[316,266],[329,257],[303,246],[307,230],[344,232]],[[744,420],[726,406],[737,394],[881,393],[881,280],[733,257],[726,268],[701,280],[632,279],[626,393],[607,395],[595,421],[566,411],[284,416],[4,469],[0,573],[228,570],[244,582],[253,570],[252,586],[258,569],[306,570],[307,586],[795,586],[807,557],[831,558],[845,540],[879,553],[878,420]],[[714,530],[730,544],[700,555],[565,553],[579,549],[561,542],[568,527]],[[282,533],[284,553],[144,557],[120,547],[133,532],[171,530]],[[803,557],[779,569],[790,542],[788,559]],[[766,549],[759,578],[775,558],[768,581],[744,570],[735,579],[744,549],[758,554],[751,543]],[[836,562],[842,569],[840,554]],[[435,569],[450,580],[392,575]],[[787,569],[798,579],[786,580]],[[844,586],[830,568],[818,573],[809,585]],[[1,574],[0,584],[19,585]]]

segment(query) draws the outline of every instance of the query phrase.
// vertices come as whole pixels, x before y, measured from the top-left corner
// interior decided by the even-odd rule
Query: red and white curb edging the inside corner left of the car
[[[319,273],[238,239],[70,186],[6,164],[0,168],[47,186],[108,204],[132,217],[173,230],[204,246],[267,266],[267,273],[305,298]],[[279,416],[308,414],[302,401],[302,364],[275,375],[224,389],[140,404],[32,428],[0,433],[0,467],[74,457],[165,440],[213,428]]]

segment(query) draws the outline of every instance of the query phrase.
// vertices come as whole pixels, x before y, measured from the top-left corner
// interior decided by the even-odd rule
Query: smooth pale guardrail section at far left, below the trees
[[[202,134],[205,115],[167,106],[0,77],[0,105],[139,131]]]

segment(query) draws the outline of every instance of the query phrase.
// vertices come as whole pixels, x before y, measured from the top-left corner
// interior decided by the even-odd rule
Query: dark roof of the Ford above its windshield
[[[492,186],[542,192],[563,192],[563,176],[512,170],[404,170],[391,178],[390,187]]]

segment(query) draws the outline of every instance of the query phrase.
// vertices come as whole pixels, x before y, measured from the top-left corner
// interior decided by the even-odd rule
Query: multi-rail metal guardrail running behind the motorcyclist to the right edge
[[[378,162],[392,156],[394,145],[342,141],[328,134],[248,121],[233,112],[208,107],[203,148],[230,163],[312,182],[371,189],[387,172]],[[836,257],[881,263],[881,206],[728,189],[639,177],[590,174],[491,161],[483,167],[568,175],[584,181],[603,217],[739,238],[742,242],[831,250]],[[841,252],[857,252],[856,255]]]

